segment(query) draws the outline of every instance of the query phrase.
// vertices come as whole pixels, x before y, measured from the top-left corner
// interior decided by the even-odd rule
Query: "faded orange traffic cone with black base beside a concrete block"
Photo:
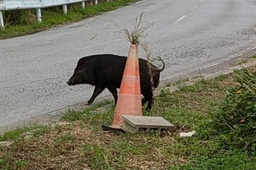
[[[117,99],[114,120],[112,125],[103,124],[103,130],[124,132],[120,124],[122,115],[142,116],[142,103],[140,97],[140,72],[138,46],[131,45],[125,64],[124,74]]]

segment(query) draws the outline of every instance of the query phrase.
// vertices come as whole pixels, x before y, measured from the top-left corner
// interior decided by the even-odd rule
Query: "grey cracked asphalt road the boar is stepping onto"
[[[129,43],[110,33],[118,29],[104,18],[130,28],[142,9],[143,19],[154,22],[148,45],[166,62],[161,80],[217,63],[256,42],[256,0],[145,0],[98,18],[0,40],[0,128],[86,102],[93,86],[65,83],[78,59],[127,55]],[[144,58],[141,49],[139,55]]]

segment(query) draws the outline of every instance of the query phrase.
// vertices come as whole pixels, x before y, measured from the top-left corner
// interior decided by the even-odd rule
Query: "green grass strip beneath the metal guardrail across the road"
[[[33,34],[48,28],[77,22],[84,18],[98,15],[101,12],[112,11],[118,7],[123,7],[137,1],[141,0],[103,1],[101,3],[99,2],[98,5],[86,6],[84,9],[80,5],[76,5],[74,8],[68,10],[67,14],[63,14],[61,10],[42,10],[42,23],[34,21],[30,24],[18,24],[14,26],[5,23],[5,30],[0,31],[0,39]],[[36,17],[35,15],[33,16]],[[26,17],[26,14],[24,17]]]

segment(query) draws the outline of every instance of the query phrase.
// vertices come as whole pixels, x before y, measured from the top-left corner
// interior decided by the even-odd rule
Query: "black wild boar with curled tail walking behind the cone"
[[[74,74],[68,80],[69,86],[76,84],[91,84],[95,86],[93,95],[88,100],[87,104],[93,103],[94,99],[107,88],[113,95],[115,104],[117,103],[117,89],[120,88],[123,78],[125,63],[127,57],[113,54],[90,55],[80,58],[75,68]],[[163,60],[160,58],[159,61]],[[162,69],[150,64],[151,75],[153,76],[153,87],[159,85],[160,72],[165,69],[163,62]],[[152,108],[153,90],[151,85],[151,76],[148,69],[148,61],[139,58],[140,70],[140,91],[144,96],[142,105],[148,101],[147,109]]]

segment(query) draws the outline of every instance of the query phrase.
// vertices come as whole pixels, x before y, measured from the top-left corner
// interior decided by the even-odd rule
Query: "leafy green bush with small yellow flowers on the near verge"
[[[219,137],[226,150],[256,155],[256,69],[244,68],[233,73],[240,84],[227,89],[218,109],[210,113],[207,139]]]

